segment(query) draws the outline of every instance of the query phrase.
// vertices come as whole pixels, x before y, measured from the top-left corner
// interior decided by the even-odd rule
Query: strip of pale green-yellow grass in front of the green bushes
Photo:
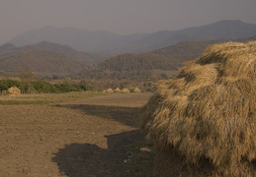
[[[17,96],[4,95],[0,96],[0,105],[61,103],[103,94],[92,91],[73,91],[66,93],[21,94]]]

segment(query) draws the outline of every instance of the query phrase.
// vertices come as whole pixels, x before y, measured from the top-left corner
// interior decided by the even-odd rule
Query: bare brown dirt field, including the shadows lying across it
[[[138,111],[150,95],[0,105],[0,176],[133,176],[120,166],[128,145],[144,141]]]

